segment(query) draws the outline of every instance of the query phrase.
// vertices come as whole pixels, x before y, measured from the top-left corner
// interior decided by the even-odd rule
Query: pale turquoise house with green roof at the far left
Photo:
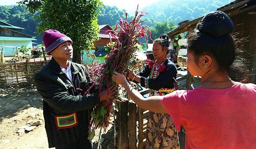
[[[0,49],[4,51],[5,57],[14,56],[12,51],[16,52],[15,47],[22,45],[32,47],[32,41],[36,40],[35,37],[21,33],[22,29],[24,28],[0,21]]]

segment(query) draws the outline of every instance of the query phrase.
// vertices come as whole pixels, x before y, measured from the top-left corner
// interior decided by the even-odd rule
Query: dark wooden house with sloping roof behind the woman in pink
[[[241,41],[247,41],[242,42],[238,48],[242,47],[245,51],[240,56],[247,59],[248,68],[252,74],[251,79],[256,83],[256,0],[235,0],[217,10],[225,12],[231,18],[234,23],[233,35]],[[175,35],[186,31],[191,32],[203,17],[179,24],[167,33],[168,36],[174,39]]]

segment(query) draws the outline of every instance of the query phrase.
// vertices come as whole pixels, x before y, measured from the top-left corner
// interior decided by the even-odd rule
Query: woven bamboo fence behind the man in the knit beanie
[[[34,75],[48,61],[0,64],[0,88],[32,86]]]

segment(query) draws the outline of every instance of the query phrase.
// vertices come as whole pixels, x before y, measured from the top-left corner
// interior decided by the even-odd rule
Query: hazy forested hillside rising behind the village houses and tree
[[[234,0],[159,0],[144,8],[139,6],[139,10],[148,12],[142,20],[145,21],[143,24],[150,26],[154,39],[160,33],[170,31],[181,21],[194,20],[232,1]],[[116,6],[103,5],[99,9],[98,24],[114,27],[120,17],[125,19],[126,10],[119,10]],[[36,36],[36,42],[42,43],[42,35],[36,33],[38,20],[35,18],[39,13],[30,13],[25,6],[0,6],[0,20],[23,27],[23,33]],[[128,14],[128,21],[133,18],[134,13]]]

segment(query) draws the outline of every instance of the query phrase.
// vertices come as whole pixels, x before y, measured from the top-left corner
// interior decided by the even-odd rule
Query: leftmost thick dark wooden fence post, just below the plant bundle
[[[118,112],[116,114],[115,127],[117,137],[115,137],[118,149],[128,149],[128,99],[121,98],[117,101]]]

